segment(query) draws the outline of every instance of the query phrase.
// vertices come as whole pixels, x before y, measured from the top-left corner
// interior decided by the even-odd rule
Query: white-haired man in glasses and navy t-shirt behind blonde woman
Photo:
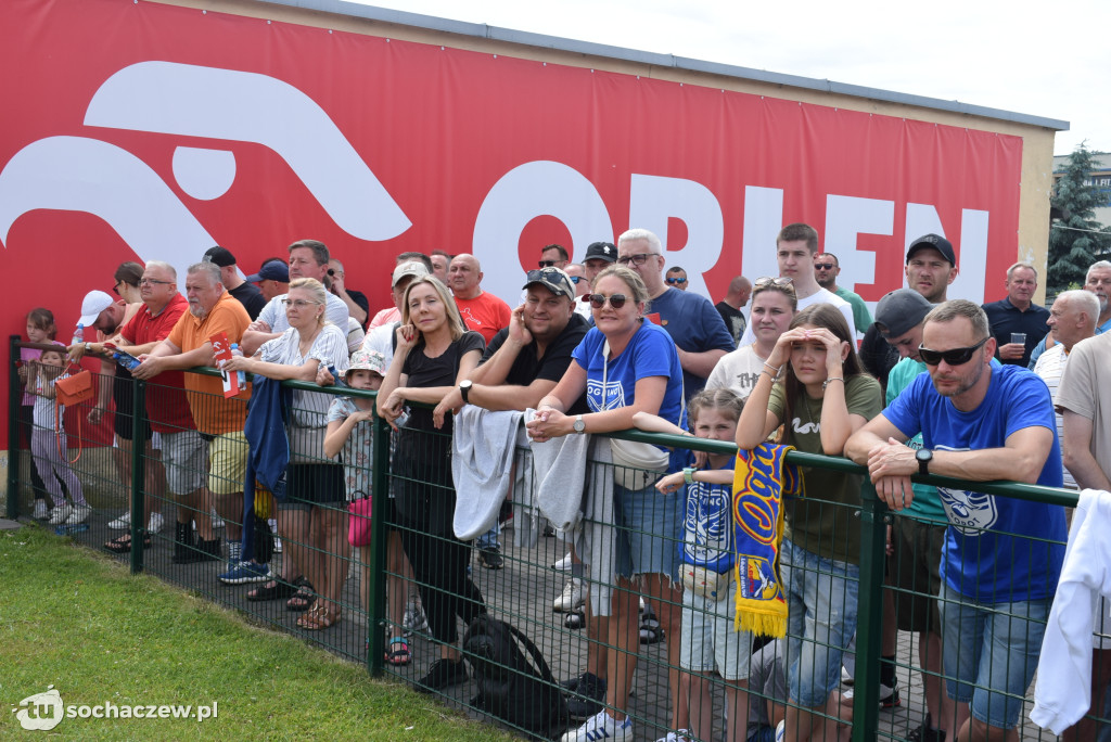
[[[630,229],[618,238],[618,263],[631,268],[644,281],[651,299],[653,321],[659,317],[679,351],[683,389],[690,399],[705,387],[707,377],[721,357],[734,349],[721,314],[710,300],[663,282],[663,245],[647,229]]]

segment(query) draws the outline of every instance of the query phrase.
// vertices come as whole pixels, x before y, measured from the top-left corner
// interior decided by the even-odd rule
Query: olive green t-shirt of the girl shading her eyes
[[[835,382],[834,382],[835,383]],[[785,423],[783,442],[807,453],[822,453],[819,422],[823,400],[812,400],[803,390],[794,400],[792,419],[783,420],[783,384],[775,384],[768,410]],[[871,420],[883,408],[880,382],[867,373],[850,377],[844,390],[849,414]],[[805,498],[784,505],[785,537],[807,551],[850,564],[860,563],[860,488],[863,477],[828,469],[802,467]]]

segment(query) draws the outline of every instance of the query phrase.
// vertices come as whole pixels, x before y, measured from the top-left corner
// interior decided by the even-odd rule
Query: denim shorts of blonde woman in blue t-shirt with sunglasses
[[[655,483],[643,490],[613,484],[617,521],[617,573],[665,574],[679,579],[679,542],[682,541],[683,501],[678,492],[660,494]]]

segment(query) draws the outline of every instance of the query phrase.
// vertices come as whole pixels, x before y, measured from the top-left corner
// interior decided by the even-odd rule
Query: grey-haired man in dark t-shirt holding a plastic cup
[[[1007,269],[1007,295],[983,305],[991,334],[999,347],[999,360],[1012,365],[1030,364],[1030,353],[1049,328],[1049,310],[1033,303],[1038,271],[1030,263],[1018,262]]]

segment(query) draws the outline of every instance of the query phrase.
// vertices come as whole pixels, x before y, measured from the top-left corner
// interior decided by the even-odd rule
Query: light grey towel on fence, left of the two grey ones
[[[471,541],[498,522],[509,493],[520,411],[490,412],[464,404],[451,437],[451,477],[456,482],[456,538]]]

